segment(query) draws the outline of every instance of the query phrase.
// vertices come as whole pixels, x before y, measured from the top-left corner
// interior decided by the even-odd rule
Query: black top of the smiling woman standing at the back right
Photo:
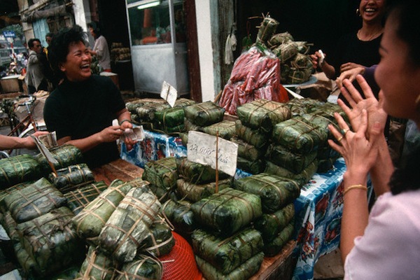
[[[346,34],[337,43],[337,48],[328,57],[328,63],[335,68],[335,78],[340,74],[339,67],[346,62],[353,62],[366,67],[378,64],[379,44],[382,35],[372,41],[360,41],[357,34]]]

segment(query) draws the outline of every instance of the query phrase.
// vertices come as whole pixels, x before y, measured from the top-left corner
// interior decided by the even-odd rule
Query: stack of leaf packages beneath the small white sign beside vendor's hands
[[[180,98],[176,99],[174,107],[163,99],[137,99],[125,105],[135,125],[142,125],[145,130],[171,135],[186,131],[183,109],[192,104],[195,104],[193,100]]]

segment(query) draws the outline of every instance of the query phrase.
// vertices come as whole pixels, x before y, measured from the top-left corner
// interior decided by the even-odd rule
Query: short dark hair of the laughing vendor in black
[[[87,34],[83,29],[75,25],[71,28],[61,29],[53,38],[48,51],[48,59],[52,70],[57,78],[63,78],[64,73],[60,71],[59,64],[66,62],[66,57],[69,54],[69,46],[72,43],[82,42],[87,44]]]

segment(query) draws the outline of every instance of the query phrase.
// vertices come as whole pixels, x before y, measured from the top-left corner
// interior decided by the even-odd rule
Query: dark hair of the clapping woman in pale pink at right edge
[[[412,66],[420,67],[420,2],[418,0],[400,1],[388,18],[393,20],[398,38],[407,43],[407,60]],[[419,157],[420,149],[418,148],[407,156],[407,160],[400,168],[395,169],[389,181],[393,195],[420,188]]]

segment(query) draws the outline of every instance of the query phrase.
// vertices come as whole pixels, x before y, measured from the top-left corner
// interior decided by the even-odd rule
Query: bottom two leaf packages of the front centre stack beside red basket
[[[206,279],[249,279],[260,269],[264,253],[260,232],[251,228],[230,237],[195,230],[193,251]]]

